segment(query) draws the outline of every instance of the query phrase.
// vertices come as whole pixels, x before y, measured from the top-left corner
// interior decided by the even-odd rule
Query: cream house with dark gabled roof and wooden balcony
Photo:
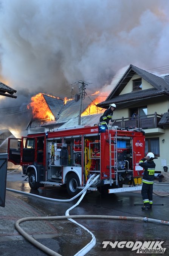
[[[169,166],[169,75],[159,77],[132,64],[115,88],[98,107],[116,104],[115,126],[138,127],[145,131],[145,154],[153,152],[156,171]],[[137,116],[132,117],[137,112]],[[168,174],[168,173],[166,173]]]

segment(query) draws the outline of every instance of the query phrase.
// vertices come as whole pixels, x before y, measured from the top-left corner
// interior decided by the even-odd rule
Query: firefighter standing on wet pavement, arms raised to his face
[[[153,159],[156,159],[156,157],[154,157],[152,152],[149,152],[146,157],[141,159],[138,163],[144,168],[142,179],[143,186],[141,189],[141,195],[144,203],[144,206],[142,206],[143,210],[151,209],[153,203],[153,181],[155,173],[155,163],[153,162]]]

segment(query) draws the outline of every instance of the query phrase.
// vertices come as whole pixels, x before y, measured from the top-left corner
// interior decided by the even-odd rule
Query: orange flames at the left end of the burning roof
[[[51,95],[48,95],[50,97],[54,97]],[[56,97],[54,97],[56,98]],[[59,99],[57,97],[57,99]],[[33,118],[37,119],[48,119],[48,121],[54,121],[54,115],[52,114],[50,108],[48,107],[48,104],[46,103],[43,94],[38,93],[35,96],[31,97],[31,103],[27,105],[27,108],[32,108]]]

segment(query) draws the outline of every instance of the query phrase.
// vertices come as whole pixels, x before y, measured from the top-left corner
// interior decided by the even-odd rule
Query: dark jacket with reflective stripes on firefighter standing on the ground
[[[144,168],[142,182],[146,184],[153,184],[154,173],[155,173],[155,163],[153,161],[149,161],[143,158],[140,160],[138,164]]]

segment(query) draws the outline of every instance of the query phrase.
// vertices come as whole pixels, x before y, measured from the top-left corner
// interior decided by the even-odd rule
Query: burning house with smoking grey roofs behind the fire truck
[[[78,126],[79,108],[81,103],[77,95],[75,99],[67,100],[66,103],[64,99],[59,99],[50,95],[42,94],[42,97],[41,102],[43,101],[43,103],[48,106],[48,109],[53,116],[53,121],[51,121],[50,118],[36,118],[35,115],[26,128],[28,133],[47,132],[62,127]],[[89,102],[87,101],[85,101],[85,104],[82,104],[82,112],[87,109],[88,105]],[[100,116],[101,113],[99,110],[95,115],[81,116],[81,125],[94,125],[95,123],[98,123]]]

